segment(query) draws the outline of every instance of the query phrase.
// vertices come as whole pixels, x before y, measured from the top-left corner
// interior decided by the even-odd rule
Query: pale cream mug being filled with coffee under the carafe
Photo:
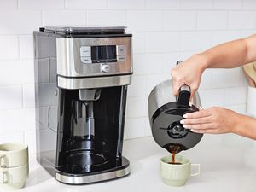
[[[167,185],[182,186],[189,177],[200,174],[200,164],[191,164],[189,159],[180,155],[175,156],[175,161],[181,164],[170,164],[172,162],[171,155],[160,160],[160,176]],[[197,172],[191,173],[191,166],[196,166]]]

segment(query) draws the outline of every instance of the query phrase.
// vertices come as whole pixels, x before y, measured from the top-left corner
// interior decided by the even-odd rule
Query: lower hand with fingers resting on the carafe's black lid
[[[197,133],[235,132],[240,114],[226,108],[207,108],[194,113],[186,113],[181,124],[186,129]]]

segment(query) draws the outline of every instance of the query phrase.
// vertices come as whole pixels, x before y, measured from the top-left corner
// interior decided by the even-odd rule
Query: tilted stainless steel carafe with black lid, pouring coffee
[[[179,61],[177,61],[178,64]],[[185,129],[180,120],[183,114],[198,111],[201,100],[198,92],[190,101],[190,87],[180,87],[177,96],[172,94],[172,80],[157,84],[148,97],[148,117],[154,141],[172,153],[193,148],[203,134]]]

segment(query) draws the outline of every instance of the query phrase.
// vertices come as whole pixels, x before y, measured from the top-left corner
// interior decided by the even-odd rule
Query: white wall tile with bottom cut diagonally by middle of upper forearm
[[[212,46],[223,44],[228,41],[241,38],[241,32],[239,31],[217,31],[212,32]]]

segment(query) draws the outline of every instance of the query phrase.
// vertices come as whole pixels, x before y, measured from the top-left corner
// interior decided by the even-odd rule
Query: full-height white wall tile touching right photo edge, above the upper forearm
[[[230,11],[228,16],[229,29],[255,29],[256,13],[253,11]]]

